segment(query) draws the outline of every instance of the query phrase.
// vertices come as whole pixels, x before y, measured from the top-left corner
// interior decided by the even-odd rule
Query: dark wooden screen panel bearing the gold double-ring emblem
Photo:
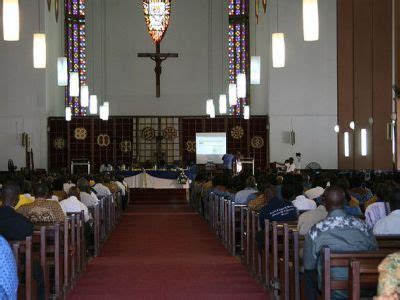
[[[109,137],[109,145],[104,146],[104,140],[101,141],[99,136]],[[102,146],[103,145],[103,146]],[[115,161],[115,135],[114,135],[114,119],[109,119],[108,121],[103,121],[100,119],[93,119],[93,172],[98,173],[100,166],[103,163],[110,163],[116,165]]]

